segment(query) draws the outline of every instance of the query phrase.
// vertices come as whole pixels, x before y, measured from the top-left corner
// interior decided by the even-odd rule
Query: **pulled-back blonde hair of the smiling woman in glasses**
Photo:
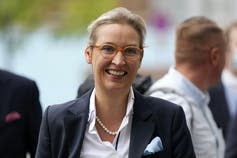
[[[140,36],[140,47],[143,48],[146,35],[145,22],[142,17],[123,7],[118,7],[102,14],[88,26],[89,43],[96,42],[96,31],[101,25],[123,23],[132,26],[137,31]]]

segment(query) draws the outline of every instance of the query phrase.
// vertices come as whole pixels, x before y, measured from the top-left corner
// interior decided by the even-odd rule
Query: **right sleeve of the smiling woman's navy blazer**
[[[195,158],[190,132],[181,107],[178,108],[172,123],[172,148],[175,158]]]

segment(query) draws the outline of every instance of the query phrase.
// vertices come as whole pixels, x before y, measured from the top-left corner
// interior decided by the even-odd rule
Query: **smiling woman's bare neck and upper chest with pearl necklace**
[[[123,117],[126,114],[128,95],[129,91],[127,93],[114,94],[96,89],[96,116],[99,118],[96,121],[96,128],[101,140],[113,142],[115,135],[108,134],[105,127],[117,134]]]

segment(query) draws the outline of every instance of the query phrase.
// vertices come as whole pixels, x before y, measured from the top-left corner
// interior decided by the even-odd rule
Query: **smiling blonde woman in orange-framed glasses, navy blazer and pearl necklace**
[[[95,88],[46,109],[36,158],[195,158],[182,108],[132,88],[144,55],[143,19],[115,8],[88,31]]]

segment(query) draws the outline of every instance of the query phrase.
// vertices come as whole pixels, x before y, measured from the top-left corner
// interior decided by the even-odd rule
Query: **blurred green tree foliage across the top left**
[[[0,38],[5,66],[24,36],[41,27],[68,37],[85,31],[92,19],[117,5],[115,0],[0,0]]]

